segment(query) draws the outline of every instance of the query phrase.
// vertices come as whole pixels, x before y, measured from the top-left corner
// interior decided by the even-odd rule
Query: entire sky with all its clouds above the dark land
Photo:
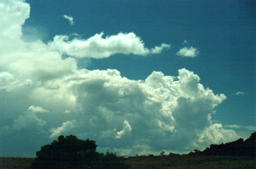
[[[59,135],[121,156],[256,131],[256,2],[0,0],[0,156]]]

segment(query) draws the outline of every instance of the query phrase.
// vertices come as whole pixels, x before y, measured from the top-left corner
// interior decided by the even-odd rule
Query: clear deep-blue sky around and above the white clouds
[[[122,76],[145,80],[152,71],[177,76],[186,68],[200,83],[227,99],[217,107],[214,120],[222,125],[255,126],[256,118],[256,1],[228,0],[27,0],[30,18],[23,26],[35,28],[44,42],[57,34],[78,33],[87,39],[134,32],[153,48],[171,44],[169,50],[149,56],[114,55],[78,60],[79,68],[117,69]],[[63,15],[74,18],[70,25]],[[188,43],[183,44],[184,40]],[[199,50],[195,58],[176,56],[182,47]],[[238,91],[244,95],[234,95]]]

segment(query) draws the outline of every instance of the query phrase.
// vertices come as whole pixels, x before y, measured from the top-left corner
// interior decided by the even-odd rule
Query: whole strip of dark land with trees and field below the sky
[[[160,155],[118,157],[109,151],[98,153],[96,147],[93,140],[59,136],[42,146],[35,159],[0,158],[0,168],[256,168],[256,132],[247,140],[212,144],[187,155],[162,151]]]

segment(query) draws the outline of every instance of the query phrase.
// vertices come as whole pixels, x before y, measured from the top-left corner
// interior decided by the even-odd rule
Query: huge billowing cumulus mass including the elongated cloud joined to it
[[[70,134],[120,155],[186,152],[237,139],[233,130],[211,121],[225,95],[205,89],[192,71],[178,70],[176,80],[162,72],[130,80],[118,70],[78,69],[73,58],[146,55],[168,45],[148,50],[134,33],[24,42],[21,26],[29,10],[23,0],[0,1],[0,156],[35,156],[40,146]],[[117,43],[109,46],[110,41]],[[93,48],[84,54],[87,43]],[[73,57],[63,59],[63,53]]]

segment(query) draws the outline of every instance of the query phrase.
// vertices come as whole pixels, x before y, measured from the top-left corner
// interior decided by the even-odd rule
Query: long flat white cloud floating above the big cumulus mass
[[[133,32],[118,33],[117,35],[102,38],[103,32],[95,34],[88,39],[74,38],[69,41],[68,36],[57,35],[52,42],[48,43],[49,49],[58,51],[76,58],[92,57],[105,58],[121,53],[124,55],[148,55],[150,53],[161,53],[164,48],[170,48],[168,44],[149,50],[144,46],[144,42]]]

